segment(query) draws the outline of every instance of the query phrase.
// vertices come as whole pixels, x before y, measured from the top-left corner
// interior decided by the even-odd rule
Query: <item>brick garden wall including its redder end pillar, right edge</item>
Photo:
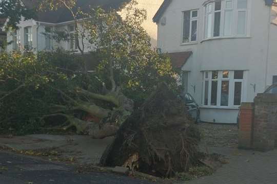
[[[277,147],[276,94],[258,94],[254,103],[242,103],[239,147],[259,151]]]

